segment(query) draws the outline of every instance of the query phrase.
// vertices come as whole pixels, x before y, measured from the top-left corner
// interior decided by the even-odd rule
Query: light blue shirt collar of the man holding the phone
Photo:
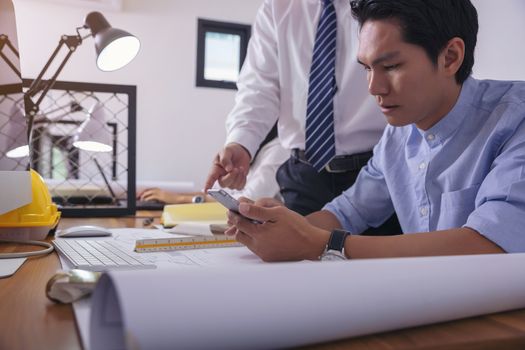
[[[477,80],[472,77],[467,78],[461,87],[459,98],[454,107],[430,129],[426,131],[418,129],[430,147],[445,142],[445,140],[458,129],[461,123],[463,123],[474,99],[477,86]],[[416,127],[415,124],[413,126]]]

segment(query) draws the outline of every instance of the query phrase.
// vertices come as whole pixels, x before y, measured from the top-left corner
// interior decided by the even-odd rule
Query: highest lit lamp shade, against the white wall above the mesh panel
[[[97,51],[97,66],[103,71],[114,71],[127,65],[140,49],[140,41],[130,33],[111,27],[100,12],[86,16],[84,26],[91,30]]]

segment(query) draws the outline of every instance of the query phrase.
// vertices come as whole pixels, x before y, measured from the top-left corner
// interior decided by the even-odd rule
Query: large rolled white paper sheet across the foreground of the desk
[[[111,272],[94,349],[268,349],[525,307],[525,254]]]

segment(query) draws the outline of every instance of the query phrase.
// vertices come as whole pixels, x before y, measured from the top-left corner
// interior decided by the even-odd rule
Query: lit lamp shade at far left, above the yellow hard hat
[[[3,131],[6,137],[6,156],[9,158],[22,158],[29,155],[27,144],[27,122],[22,109],[13,104],[10,118]]]

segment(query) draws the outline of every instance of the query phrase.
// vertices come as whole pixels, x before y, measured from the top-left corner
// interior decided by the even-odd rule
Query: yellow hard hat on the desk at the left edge
[[[60,212],[51,201],[51,194],[44,179],[31,169],[31,189],[33,200],[20,208],[0,215],[0,236],[19,239],[44,239],[50,230],[56,228],[60,220]],[[22,231],[20,231],[22,230]],[[17,236],[17,233],[25,233]],[[28,234],[29,233],[29,234]]]

